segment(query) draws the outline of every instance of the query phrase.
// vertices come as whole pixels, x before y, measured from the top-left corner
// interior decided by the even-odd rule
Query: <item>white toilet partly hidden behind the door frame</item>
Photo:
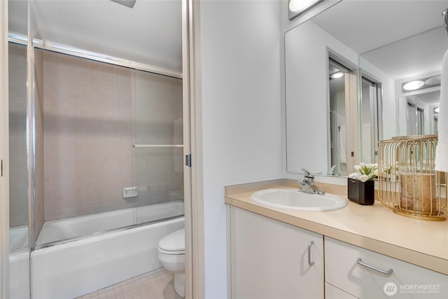
[[[185,228],[160,240],[158,258],[166,270],[174,272],[174,290],[185,297]]]

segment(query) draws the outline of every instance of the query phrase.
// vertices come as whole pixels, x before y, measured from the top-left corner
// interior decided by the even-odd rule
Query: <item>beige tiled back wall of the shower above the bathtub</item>
[[[174,142],[181,80],[48,51],[42,60],[45,221],[169,200],[183,189],[172,148],[132,148]],[[133,140],[138,130],[145,137]],[[139,197],[123,199],[137,181]]]

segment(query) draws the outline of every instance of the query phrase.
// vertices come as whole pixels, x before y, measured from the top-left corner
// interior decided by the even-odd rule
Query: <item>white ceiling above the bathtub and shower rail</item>
[[[26,1],[13,2],[10,18],[23,18],[18,7]],[[134,8],[109,0],[33,0],[31,4],[35,17],[31,28],[38,39],[182,69],[181,0],[137,0]],[[23,30],[20,25],[11,28]]]

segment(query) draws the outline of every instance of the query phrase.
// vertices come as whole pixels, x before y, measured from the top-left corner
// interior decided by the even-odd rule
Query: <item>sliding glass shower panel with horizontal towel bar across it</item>
[[[182,80],[135,71],[134,82],[137,223],[183,215]]]

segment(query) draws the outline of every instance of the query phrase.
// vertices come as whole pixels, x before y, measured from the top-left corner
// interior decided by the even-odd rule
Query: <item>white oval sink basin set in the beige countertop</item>
[[[336,195],[303,193],[297,189],[266,189],[252,194],[252,200],[269,207],[300,211],[330,211],[342,209],[346,200]]]

